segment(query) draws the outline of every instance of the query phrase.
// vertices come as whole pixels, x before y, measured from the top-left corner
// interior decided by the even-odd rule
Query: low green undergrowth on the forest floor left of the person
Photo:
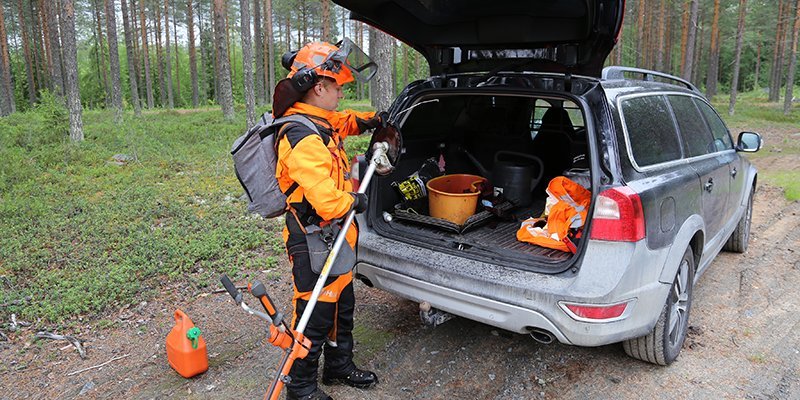
[[[154,110],[116,124],[87,111],[80,144],[55,99],[0,118],[0,320],[103,318],[221,273],[274,276],[281,223],[246,212],[229,155],[237,116]]]

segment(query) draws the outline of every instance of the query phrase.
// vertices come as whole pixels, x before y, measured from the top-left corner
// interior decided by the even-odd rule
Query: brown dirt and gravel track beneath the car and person
[[[670,367],[630,359],[619,345],[541,345],[463,319],[427,329],[415,304],[359,283],[356,359],[381,383],[369,391],[325,389],[339,399],[800,398],[798,227],[800,203],[761,185],[750,249],[722,253],[701,278],[689,338]],[[269,286],[273,299],[288,303],[288,279]],[[64,342],[26,343],[33,331],[0,342],[0,399],[263,396],[278,353],[262,342],[260,321],[239,312],[227,294],[169,293],[121,310],[115,328],[81,334],[91,338],[86,360]],[[209,344],[210,370],[191,380],[174,373],[165,357],[176,304]],[[66,376],[125,354],[102,369]]]

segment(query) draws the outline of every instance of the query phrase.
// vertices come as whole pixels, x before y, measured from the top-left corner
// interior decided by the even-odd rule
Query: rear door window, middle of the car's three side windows
[[[716,151],[714,138],[703,122],[703,116],[689,96],[667,96],[683,139],[683,150],[689,157]]]

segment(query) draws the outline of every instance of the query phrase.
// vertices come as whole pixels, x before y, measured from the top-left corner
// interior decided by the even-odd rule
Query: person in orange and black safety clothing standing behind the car
[[[279,131],[276,176],[287,194],[288,212],[283,238],[292,263],[294,316],[296,328],[319,275],[311,269],[306,243],[307,228],[324,227],[343,218],[351,210],[367,208],[367,196],[354,193],[349,180],[350,162],[344,151],[344,138],[376,128],[381,117],[374,112],[337,112],[344,97],[342,85],[353,81],[353,71],[343,63],[340,49],[328,43],[309,43],[284,57],[290,69],[287,79],[278,83],[273,101],[275,118],[301,114],[311,120],[320,134],[302,124],[287,123]],[[293,57],[293,58],[292,58]],[[291,62],[291,65],[287,65]],[[291,86],[290,86],[291,84]],[[282,90],[282,85],[283,89]],[[288,88],[288,89],[287,89]],[[291,94],[300,97],[294,101]],[[347,232],[347,243],[355,249],[358,237],[355,222]],[[322,382],[368,388],[378,377],[353,363],[353,273],[331,276],[325,282],[305,336],[312,347],[297,359],[286,384],[287,399],[330,399],[317,385],[319,357],[324,353]]]

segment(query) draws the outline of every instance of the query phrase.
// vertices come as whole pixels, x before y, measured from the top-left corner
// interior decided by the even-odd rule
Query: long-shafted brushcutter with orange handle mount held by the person
[[[393,169],[390,157],[396,157],[397,154],[390,155],[388,154],[390,152],[399,152],[399,148],[394,146],[394,148],[390,150],[390,145],[386,142],[376,142],[373,144],[369,166],[367,167],[367,171],[364,173],[364,177],[361,180],[358,193],[366,192],[376,169],[379,171],[379,173],[384,174]],[[392,158],[396,160],[394,157]],[[292,369],[294,360],[298,358],[304,358],[308,355],[308,352],[311,349],[311,341],[303,336],[303,332],[305,331],[306,325],[311,318],[311,314],[314,312],[314,308],[317,305],[319,295],[322,292],[322,288],[325,286],[325,281],[328,279],[328,275],[330,274],[331,266],[336,260],[339,250],[341,250],[342,246],[346,243],[345,237],[347,235],[347,231],[350,229],[350,225],[353,223],[354,218],[355,210],[351,210],[349,213],[347,213],[344,224],[342,225],[342,229],[336,236],[336,240],[334,241],[333,247],[328,254],[328,258],[325,260],[325,264],[322,266],[322,271],[320,272],[316,285],[314,285],[314,290],[311,292],[311,298],[308,300],[308,305],[306,305],[303,315],[300,317],[300,322],[297,324],[297,329],[291,329],[291,326],[284,321],[283,314],[277,311],[272,299],[270,299],[269,295],[267,295],[267,290],[263,283],[254,281],[251,285],[248,285],[248,288],[250,293],[255,296],[264,307],[266,314],[256,311],[245,304],[245,302],[242,300],[242,293],[236,289],[236,286],[234,286],[233,282],[231,282],[226,275],[222,275],[220,277],[222,285],[225,286],[225,289],[228,291],[228,293],[230,293],[237,305],[242,307],[242,309],[248,314],[260,317],[270,323],[268,340],[274,346],[283,349],[283,357],[278,365],[278,371],[275,374],[275,379],[267,390],[267,393],[264,395],[264,399],[278,399],[278,396],[283,390],[283,386],[291,380],[289,377],[289,371]]]

